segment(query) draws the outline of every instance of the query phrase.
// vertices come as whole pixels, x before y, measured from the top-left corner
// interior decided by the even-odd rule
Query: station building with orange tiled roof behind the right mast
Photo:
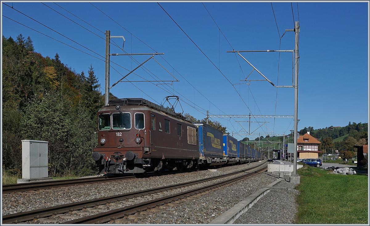
[[[307,133],[297,140],[297,153],[298,158],[318,158],[319,153],[319,145],[321,142],[310,135],[310,132]]]

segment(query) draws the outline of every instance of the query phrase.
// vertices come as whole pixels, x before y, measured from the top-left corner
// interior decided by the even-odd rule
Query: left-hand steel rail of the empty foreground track
[[[152,193],[155,193],[155,192],[162,192],[162,191],[166,191],[166,190],[169,190],[169,189],[176,189],[176,188],[183,187],[183,186],[190,186],[190,185],[193,185],[193,184],[198,184],[199,182],[206,182],[206,181],[210,181],[210,180],[213,180],[213,179],[228,177],[228,176],[231,176],[231,175],[234,175],[234,174],[239,174],[241,172],[253,170],[257,167],[260,167],[263,164],[265,164],[265,162],[263,162],[262,164],[260,164],[256,167],[252,167],[252,168],[249,168],[249,169],[246,169],[246,170],[233,172],[233,173],[229,173],[229,174],[224,174],[224,175],[219,175],[219,176],[216,176],[216,177],[199,179],[199,180],[196,180],[196,181],[184,182],[184,183],[181,183],[181,184],[162,186],[162,187],[159,187],[159,188],[151,188],[151,189],[147,189],[147,190],[144,190],[144,191],[129,192],[129,193],[120,194],[120,195],[102,197],[102,198],[98,198],[98,199],[85,200],[85,201],[81,201],[81,202],[73,202],[73,203],[68,203],[68,204],[64,204],[64,205],[51,206],[51,207],[48,207],[48,208],[35,209],[35,210],[26,211],[26,212],[3,215],[2,220],[3,220],[4,224],[7,224],[7,223],[13,223],[13,222],[14,223],[26,222],[28,220],[33,220],[34,218],[45,218],[45,217],[51,216],[55,213],[60,214],[60,213],[69,212],[71,209],[79,210],[79,209],[83,209],[83,208],[89,208],[89,207],[93,207],[93,206],[95,206],[99,203],[121,201],[122,199],[126,199],[126,198],[128,198],[128,199],[129,198],[134,198],[135,196],[148,195],[148,194],[152,194]]]

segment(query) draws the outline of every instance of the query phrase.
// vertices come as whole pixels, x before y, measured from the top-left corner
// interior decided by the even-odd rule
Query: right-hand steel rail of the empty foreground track
[[[218,182],[218,183],[215,183],[215,184],[207,185],[207,186],[204,186],[202,188],[195,188],[195,189],[185,191],[185,192],[181,192],[181,193],[178,193],[178,194],[169,195],[169,196],[165,196],[165,197],[158,198],[158,199],[153,199],[151,201],[142,202],[142,203],[138,203],[138,204],[131,205],[131,206],[125,206],[125,207],[110,210],[110,211],[107,211],[107,212],[104,212],[104,213],[98,213],[98,214],[95,214],[95,215],[92,215],[92,216],[87,216],[87,217],[84,217],[84,218],[63,222],[62,224],[107,223],[107,222],[110,222],[113,219],[123,218],[124,216],[131,215],[131,214],[134,214],[136,212],[141,212],[143,210],[155,208],[158,205],[163,205],[165,203],[174,202],[178,199],[186,198],[186,197],[189,197],[189,196],[192,196],[192,195],[195,195],[195,194],[199,194],[199,193],[204,192],[204,191],[208,191],[208,190],[216,188],[216,187],[220,187],[220,186],[223,186],[223,185],[226,185],[226,184],[230,184],[231,182],[237,181],[237,180],[245,178],[245,177],[250,177],[250,176],[256,174],[257,172],[265,171],[266,169],[267,169],[267,167],[263,168],[262,170],[257,170],[255,172],[251,172],[249,174],[242,175],[240,177],[236,177],[236,178],[229,179],[227,181],[222,181],[222,182]]]

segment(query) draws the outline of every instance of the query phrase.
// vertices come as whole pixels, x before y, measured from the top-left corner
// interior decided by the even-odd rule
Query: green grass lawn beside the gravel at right
[[[298,171],[297,223],[368,224],[368,177],[328,174],[305,165]]]

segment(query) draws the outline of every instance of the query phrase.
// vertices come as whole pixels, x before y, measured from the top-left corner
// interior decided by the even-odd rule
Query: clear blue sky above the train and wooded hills
[[[137,87],[128,82],[121,82],[111,89],[111,93],[119,98],[142,97],[155,103],[164,103],[165,96],[179,95],[184,113],[190,113],[197,119],[205,118],[206,110],[209,110],[210,114],[274,115],[276,109],[276,115],[293,115],[292,88],[279,88],[276,92],[276,88],[267,81],[251,82],[249,86],[246,84],[233,86],[231,83],[245,83],[240,80],[249,75],[252,67],[240,56],[226,53],[232,49],[279,49],[279,34],[281,37],[285,29],[294,28],[291,3],[272,3],[278,33],[269,2],[205,2],[205,7],[228,41],[220,33],[201,2],[160,3],[213,64],[220,68],[227,79],[155,2],[92,3],[119,25],[90,3],[57,3],[97,29],[56,4],[45,3],[97,35],[42,3],[6,2],[6,4],[102,56],[105,54],[105,30],[110,30],[111,35],[123,35],[126,39],[124,50],[129,53],[164,52],[163,58],[155,56],[155,59],[180,82],[174,82],[173,86],[156,85],[158,82],[133,83]],[[4,4],[1,8],[3,16],[104,59]],[[299,20],[300,23],[298,130],[309,126],[313,126],[314,129],[346,126],[349,121],[368,122],[368,4],[298,3],[297,7],[297,3],[293,3],[293,13],[294,20]],[[7,38],[10,36],[16,38],[19,34],[30,36],[37,52],[51,58],[58,53],[61,61],[78,73],[87,72],[92,64],[104,93],[104,61],[54,41],[5,17],[2,17],[1,32]],[[114,42],[122,47],[122,40],[114,39]],[[294,32],[286,32],[281,38],[280,48],[294,49]],[[111,45],[111,53],[123,52]],[[277,52],[242,53],[242,55],[275,85],[278,72],[279,85],[292,84],[291,53],[280,54],[280,60]],[[135,59],[143,62],[148,57],[135,56]],[[111,63],[111,66],[122,75],[128,73],[126,69],[131,70],[137,66],[128,56],[111,56],[111,61],[125,68]],[[172,76],[153,59],[144,66],[150,72],[142,68],[135,71],[142,78],[149,81],[172,80]],[[122,78],[113,68],[110,69],[111,85]],[[127,79],[142,81],[143,79],[137,75],[131,74]],[[263,78],[254,71],[248,79]],[[179,112],[181,109],[178,108],[176,111]],[[246,121],[218,119],[230,133],[238,133],[242,127],[235,120]],[[263,132],[287,134],[293,129],[291,119],[275,121],[266,119],[266,121],[269,122],[265,124],[268,128],[262,126],[257,129],[258,123],[251,123],[251,131],[257,129],[256,131],[261,131],[260,135],[265,136]],[[248,123],[241,124],[248,131]],[[235,137],[241,139],[244,136]]]

